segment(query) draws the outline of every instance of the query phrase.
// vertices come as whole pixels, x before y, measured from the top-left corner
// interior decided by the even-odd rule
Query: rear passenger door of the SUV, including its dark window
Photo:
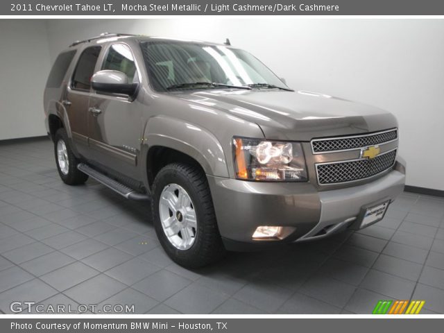
[[[101,46],[89,46],[80,54],[76,69],[67,87],[65,105],[69,116],[72,139],[78,153],[85,158],[92,157],[88,145],[88,108],[91,94],[91,77],[96,69]]]

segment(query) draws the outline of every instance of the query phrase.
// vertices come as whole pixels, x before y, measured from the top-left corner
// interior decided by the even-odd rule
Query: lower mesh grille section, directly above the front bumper
[[[393,167],[396,150],[388,151],[372,160],[350,160],[316,164],[319,185],[352,182],[370,178]]]

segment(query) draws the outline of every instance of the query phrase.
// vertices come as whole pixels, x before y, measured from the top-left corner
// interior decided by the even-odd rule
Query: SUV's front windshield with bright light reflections
[[[148,75],[157,91],[211,89],[221,85],[289,89],[262,62],[243,50],[191,42],[141,45]]]

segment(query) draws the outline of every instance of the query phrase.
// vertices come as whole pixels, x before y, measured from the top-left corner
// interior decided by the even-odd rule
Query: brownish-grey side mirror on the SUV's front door
[[[133,96],[137,89],[137,83],[128,83],[128,76],[125,73],[109,69],[97,71],[91,78],[91,85],[92,89],[98,92],[129,96]]]

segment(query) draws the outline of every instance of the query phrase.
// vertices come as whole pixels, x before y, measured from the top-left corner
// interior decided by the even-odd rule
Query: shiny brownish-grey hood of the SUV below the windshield
[[[354,135],[398,126],[389,112],[314,92],[214,89],[179,96],[257,123],[266,139],[309,141],[315,137]]]

